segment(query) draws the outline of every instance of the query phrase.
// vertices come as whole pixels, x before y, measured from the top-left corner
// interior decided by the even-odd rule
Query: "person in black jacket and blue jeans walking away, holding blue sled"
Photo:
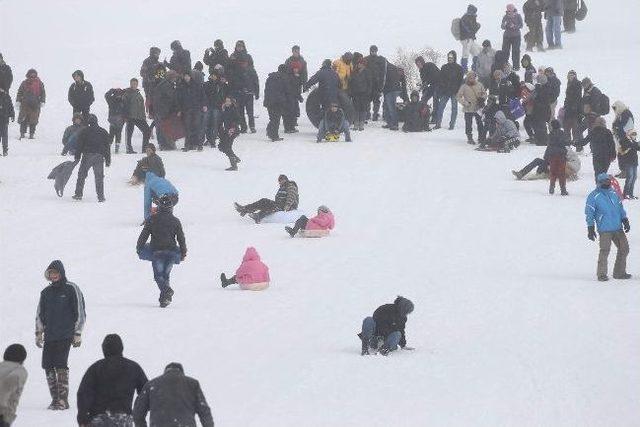
[[[170,282],[171,269],[174,264],[183,261],[187,256],[182,224],[173,216],[174,200],[169,194],[157,200],[158,211],[145,220],[136,244],[138,255],[148,252],[145,259],[151,260],[153,278],[160,289],[158,301],[163,308],[171,303],[174,294]],[[151,243],[147,247],[149,236],[151,236]]]

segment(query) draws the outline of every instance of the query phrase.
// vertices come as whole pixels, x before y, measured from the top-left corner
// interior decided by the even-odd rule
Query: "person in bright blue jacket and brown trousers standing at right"
[[[595,241],[600,233],[600,255],[598,256],[598,280],[606,282],[607,258],[611,250],[611,242],[618,248],[616,262],[613,267],[614,279],[630,279],[627,273],[627,255],[629,254],[628,233],[631,230],[629,218],[622,207],[622,201],[615,191],[611,189],[611,177],[601,173],[596,178],[598,187],[587,197],[584,213],[587,217],[587,237]]]

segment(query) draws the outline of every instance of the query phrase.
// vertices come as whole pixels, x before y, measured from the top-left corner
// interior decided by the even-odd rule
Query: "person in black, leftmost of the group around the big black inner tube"
[[[280,118],[287,114],[291,94],[287,80],[287,66],[281,64],[278,71],[270,73],[264,83],[263,105],[269,113],[269,124],[267,125],[267,137],[272,141],[282,141],[278,130],[280,128]]]

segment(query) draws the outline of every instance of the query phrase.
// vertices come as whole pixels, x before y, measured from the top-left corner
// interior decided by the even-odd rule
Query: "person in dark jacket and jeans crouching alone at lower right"
[[[358,334],[362,341],[362,355],[379,352],[386,356],[397,350],[398,345],[405,350],[413,350],[412,347],[407,347],[404,332],[407,315],[412,311],[413,303],[398,296],[393,304],[381,305],[373,312],[372,317],[366,317],[362,321],[362,332]]]

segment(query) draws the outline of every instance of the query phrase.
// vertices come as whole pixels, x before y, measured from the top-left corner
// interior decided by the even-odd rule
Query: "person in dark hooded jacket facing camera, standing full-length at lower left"
[[[45,270],[50,283],[40,293],[36,312],[36,346],[42,348],[42,369],[51,393],[48,409],[69,409],[69,350],[80,347],[86,320],[84,296],[67,280],[62,261],[55,260]]]

